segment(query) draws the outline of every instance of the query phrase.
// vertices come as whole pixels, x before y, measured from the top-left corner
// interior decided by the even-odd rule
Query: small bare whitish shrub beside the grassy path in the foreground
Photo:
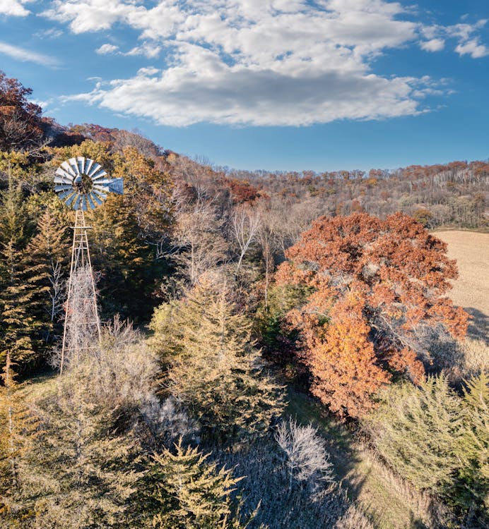
[[[294,479],[300,482],[313,479],[333,481],[333,466],[317,428],[300,426],[295,419],[289,418],[278,425],[275,439],[287,456],[289,492]]]

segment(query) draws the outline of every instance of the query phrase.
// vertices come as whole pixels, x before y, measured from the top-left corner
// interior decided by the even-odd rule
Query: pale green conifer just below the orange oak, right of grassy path
[[[389,388],[365,422],[379,453],[397,473],[418,490],[440,493],[459,468],[460,404],[443,375],[428,377],[420,387]]]

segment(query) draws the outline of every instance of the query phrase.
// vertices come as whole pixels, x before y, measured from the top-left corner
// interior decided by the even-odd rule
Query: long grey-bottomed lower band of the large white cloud
[[[375,119],[419,112],[411,97],[413,78],[387,80],[377,75],[341,75],[331,71],[314,78],[287,78],[273,71],[250,72],[223,66],[209,56],[206,75],[186,68],[141,69],[132,79],[114,80],[76,99],[113,111],[153,118],[169,126],[201,121],[235,125],[297,126],[336,119]],[[418,92],[424,97],[423,89]]]

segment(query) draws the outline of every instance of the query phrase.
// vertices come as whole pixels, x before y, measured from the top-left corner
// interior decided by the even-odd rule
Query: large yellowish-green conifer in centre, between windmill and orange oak
[[[251,324],[209,276],[153,317],[167,388],[215,439],[266,432],[283,396],[252,347]]]

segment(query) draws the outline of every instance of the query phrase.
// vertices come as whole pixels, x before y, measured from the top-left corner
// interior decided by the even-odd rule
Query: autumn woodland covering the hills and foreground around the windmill
[[[488,527],[488,347],[429,230],[487,228],[489,164],[224,170],[29,95],[0,75],[1,527]],[[59,375],[76,156],[124,194]]]

